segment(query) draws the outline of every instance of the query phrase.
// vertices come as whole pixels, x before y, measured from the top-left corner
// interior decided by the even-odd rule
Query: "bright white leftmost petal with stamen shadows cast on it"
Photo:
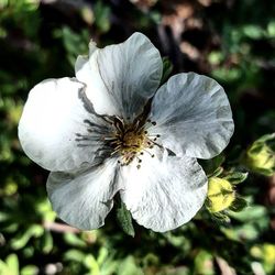
[[[44,80],[31,90],[19,123],[19,139],[26,155],[42,167],[79,168],[92,163],[102,147],[99,134],[88,133],[89,123],[99,119],[85,108],[80,99],[84,89],[77,80],[61,78]],[[98,129],[107,131],[103,124]],[[90,140],[80,141],[87,136]]]

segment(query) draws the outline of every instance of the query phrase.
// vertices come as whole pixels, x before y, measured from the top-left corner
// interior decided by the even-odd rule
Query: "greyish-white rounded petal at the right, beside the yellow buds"
[[[210,158],[229,143],[234,124],[222,87],[195,73],[172,77],[156,92],[150,119],[160,142],[178,155]]]

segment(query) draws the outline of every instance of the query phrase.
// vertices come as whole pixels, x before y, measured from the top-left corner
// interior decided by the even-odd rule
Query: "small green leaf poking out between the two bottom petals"
[[[121,229],[129,235],[134,237],[134,228],[132,223],[132,217],[127,209],[125,204],[120,200],[120,205],[117,208],[117,220]]]

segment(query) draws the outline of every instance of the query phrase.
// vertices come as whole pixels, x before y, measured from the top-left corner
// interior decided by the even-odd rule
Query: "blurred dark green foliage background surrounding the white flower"
[[[201,162],[218,195],[188,224],[133,223],[132,238],[112,211],[79,232],[52,211],[48,173],[22,152],[18,122],[30,89],[73,77],[90,38],[103,47],[134,31],[167,57],[166,75],[193,70],[224,87],[235,133]],[[274,274],[274,0],[0,0],[0,274]]]

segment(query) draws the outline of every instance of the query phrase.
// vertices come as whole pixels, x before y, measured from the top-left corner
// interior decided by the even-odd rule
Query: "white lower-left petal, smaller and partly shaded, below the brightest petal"
[[[47,180],[47,193],[53,209],[68,224],[92,230],[105,224],[118,191],[117,160],[108,160],[78,175],[53,172]]]

